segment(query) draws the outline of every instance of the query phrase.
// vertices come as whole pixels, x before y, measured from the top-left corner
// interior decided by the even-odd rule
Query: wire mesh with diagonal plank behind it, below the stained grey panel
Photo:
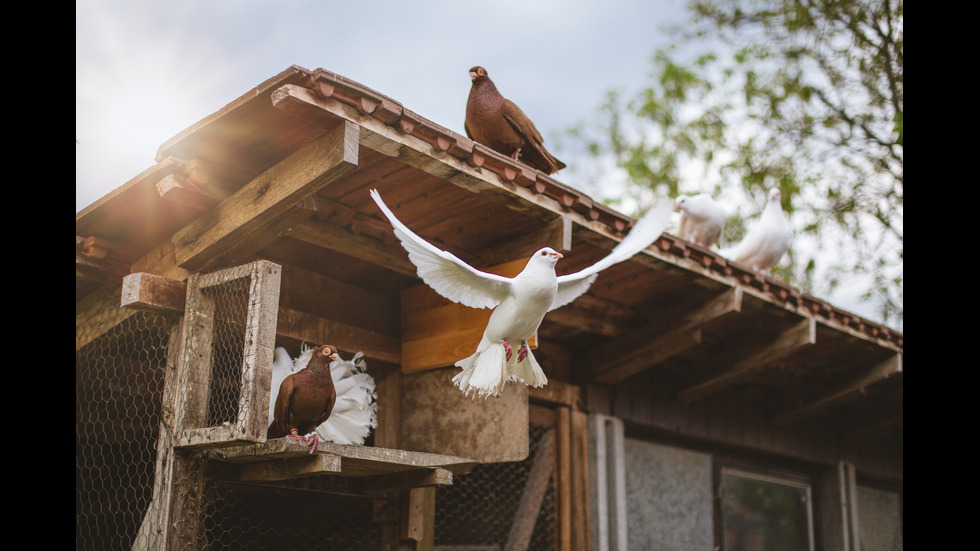
[[[504,549],[515,537],[515,523],[533,526],[529,551],[556,549],[556,505],[553,469],[535,469],[536,460],[552,461],[552,455],[539,457],[550,443],[551,427],[529,425],[530,453],[524,461],[477,465],[466,475],[440,487],[436,494],[435,544],[445,546],[484,546]],[[533,473],[544,472],[547,485],[536,509],[536,519],[519,518],[527,511],[527,489],[533,486]],[[537,503],[537,502],[536,502]],[[533,514],[533,513],[530,513]]]

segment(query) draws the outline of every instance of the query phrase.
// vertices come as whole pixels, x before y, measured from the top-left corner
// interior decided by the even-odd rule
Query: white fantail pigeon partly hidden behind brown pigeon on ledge
[[[282,347],[276,348],[272,368],[272,396],[270,403],[276,403],[279,385],[289,373],[306,367],[313,354],[313,347],[304,346],[299,357],[289,359],[289,353]],[[281,352],[280,352],[281,351]],[[277,370],[281,371],[282,356],[289,362],[289,372],[277,378]],[[374,378],[367,372],[367,362],[364,354],[358,352],[350,360],[340,358],[330,364],[330,376],[333,378],[337,391],[337,400],[326,421],[316,427],[320,440],[337,444],[363,445],[371,429],[378,426],[377,390]],[[270,415],[269,419],[272,419]]]

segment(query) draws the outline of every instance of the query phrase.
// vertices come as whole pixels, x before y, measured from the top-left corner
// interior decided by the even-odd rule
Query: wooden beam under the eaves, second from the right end
[[[779,331],[770,342],[755,352],[736,360],[721,373],[677,393],[683,403],[702,400],[752,376],[767,364],[817,342],[816,319],[805,317],[791,327]]]

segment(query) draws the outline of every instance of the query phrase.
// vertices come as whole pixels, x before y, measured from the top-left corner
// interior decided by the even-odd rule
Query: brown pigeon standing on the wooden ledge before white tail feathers
[[[339,358],[336,348],[321,344],[313,349],[310,363],[306,367],[283,379],[276,397],[275,418],[269,425],[268,438],[289,436],[310,446],[310,453],[317,450],[320,439],[313,431],[330,417],[337,401],[330,364]],[[303,435],[311,432],[313,435],[307,441]]]

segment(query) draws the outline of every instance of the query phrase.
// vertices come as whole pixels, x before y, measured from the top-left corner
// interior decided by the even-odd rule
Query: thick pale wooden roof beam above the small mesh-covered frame
[[[249,256],[297,218],[315,214],[315,204],[298,207],[357,166],[358,134],[357,125],[350,122],[328,128],[176,232],[172,242],[177,266],[200,271]]]

